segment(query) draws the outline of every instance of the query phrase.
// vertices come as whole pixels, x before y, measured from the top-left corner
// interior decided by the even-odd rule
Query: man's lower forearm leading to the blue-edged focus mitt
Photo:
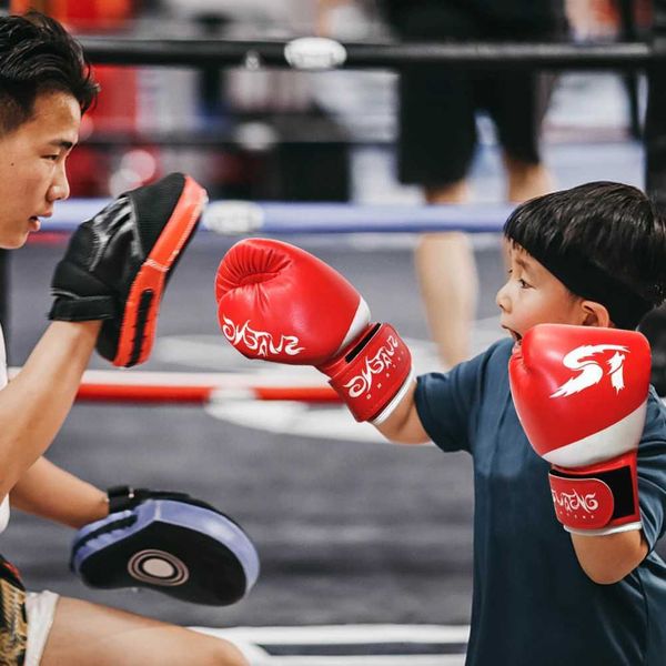
[[[12,507],[82,527],[109,514],[107,493],[40,457],[10,493]]]

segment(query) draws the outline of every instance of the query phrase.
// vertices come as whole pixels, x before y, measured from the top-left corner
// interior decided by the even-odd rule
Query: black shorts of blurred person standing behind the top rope
[[[418,3],[394,26],[403,41],[553,41],[564,27],[501,26],[454,2]],[[541,161],[539,132],[553,77],[527,70],[477,72],[442,65],[401,69],[398,173],[404,183],[463,180],[476,148],[476,113],[486,111],[506,154]]]

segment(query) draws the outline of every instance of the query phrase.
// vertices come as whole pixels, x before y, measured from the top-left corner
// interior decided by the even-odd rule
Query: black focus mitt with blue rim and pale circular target
[[[259,576],[241,526],[185,493],[109,490],[109,515],[74,538],[71,569],[90,587],[148,587],[178,599],[226,606]]]

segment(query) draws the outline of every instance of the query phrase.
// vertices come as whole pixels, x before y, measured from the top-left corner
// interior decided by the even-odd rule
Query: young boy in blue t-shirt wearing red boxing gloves
[[[447,374],[414,382],[353,286],[276,241],[222,261],[222,331],[250,357],[317,366],[389,440],[473,456],[470,666],[662,665],[666,411],[633,329],[666,295],[666,222],[639,190],[601,182],[531,200],[504,233],[512,339]]]

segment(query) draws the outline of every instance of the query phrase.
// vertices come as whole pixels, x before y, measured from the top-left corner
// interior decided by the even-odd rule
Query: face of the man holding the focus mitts
[[[80,124],[77,100],[48,92],[36,99],[30,120],[0,135],[0,248],[23,245],[39,230],[39,218],[69,196],[64,167]]]

